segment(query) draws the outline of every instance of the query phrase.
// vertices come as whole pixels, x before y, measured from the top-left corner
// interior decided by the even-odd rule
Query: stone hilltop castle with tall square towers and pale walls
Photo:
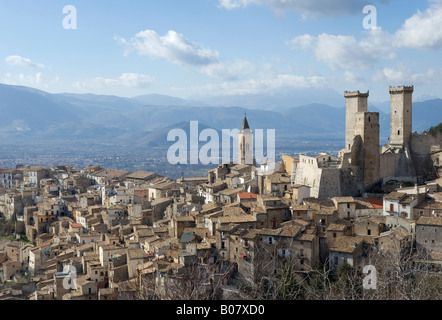
[[[413,86],[390,87],[391,129],[380,146],[379,113],[367,110],[369,92],[345,92],[345,147],[338,157],[300,155],[293,162],[294,184],[313,197],[360,196],[390,180],[422,183],[431,169],[431,136],[412,133]]]

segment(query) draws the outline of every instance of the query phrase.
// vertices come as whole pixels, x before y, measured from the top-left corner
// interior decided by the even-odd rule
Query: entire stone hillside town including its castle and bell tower
[[[333,275],[410,246],[436,270],[442,146],[411,131],[412,91],[390,87],[387,145],[368,92],[346,92],[344,149],[284,155],[272,171],[245,161],[246,116],[239,160],[206,176],[0,169],[0,300],[238,299],[287,265]]]

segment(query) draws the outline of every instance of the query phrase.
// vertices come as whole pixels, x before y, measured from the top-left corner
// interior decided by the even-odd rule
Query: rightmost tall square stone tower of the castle
[[[390,87],[390,145],[406,147],[410,145],[412,132],[413,86]]]

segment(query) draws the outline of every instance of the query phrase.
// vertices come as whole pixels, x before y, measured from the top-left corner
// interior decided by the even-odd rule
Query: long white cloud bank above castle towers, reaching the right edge
[[[332,69],[365,69],[379,60],[396,58],[401,48],[436,49],[442,47],[442,0],[433,1],[425,12],[418,11],[395,33],[368,30],[359,41],[351,35],[303,34],[287,45],[313,51]]]

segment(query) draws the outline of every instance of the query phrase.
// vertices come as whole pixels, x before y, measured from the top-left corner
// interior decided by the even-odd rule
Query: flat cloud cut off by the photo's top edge
[[[277,13],[295,11],[304,18],[316,16],[340,16],[358,14],[367,4],[376,1],[367,0],[218,0],[221,7],[232,10],[249,5],[266,5]],[[387,2],[380,0],[378,2]]]

